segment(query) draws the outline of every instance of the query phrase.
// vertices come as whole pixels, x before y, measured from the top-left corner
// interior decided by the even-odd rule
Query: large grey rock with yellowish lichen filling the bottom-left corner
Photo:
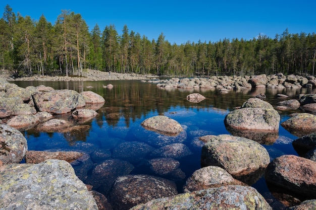
[[[1,209],[97,209],[66,161],[5,165],[0,175]]]

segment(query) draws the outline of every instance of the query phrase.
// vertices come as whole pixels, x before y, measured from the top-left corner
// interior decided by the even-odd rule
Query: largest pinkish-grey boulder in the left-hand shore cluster
[[[77,108],[81,97],[73,90],[53,90],[32,94],[35,108],[52,114],[65,114],[72,111]]]

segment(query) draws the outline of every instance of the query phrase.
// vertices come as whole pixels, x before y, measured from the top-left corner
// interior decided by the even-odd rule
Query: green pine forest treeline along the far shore
[[[163,33],[148,40],[126,25],[120,34],[114,25],[89,31],[80,14],[65,10],[54,25],[44,15],[16,15],[9,5],[0,19],[0,68],[16,76],[82,76],[86,68],[177,77],[314,75],[315,54],[314,32],[171,44]]]

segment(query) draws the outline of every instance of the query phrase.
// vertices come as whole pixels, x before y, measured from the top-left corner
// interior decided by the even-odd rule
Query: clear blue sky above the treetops
[[[198,40],[252,39],[259,33],[274,38],[288,28],[290,34],[316,31],[315,0],[273,1],[81,1],[0,0],[0,17],[6,5],[15,14],[37,21],[43,14],[55,24],[61,10],[79,13],[89,26],[101,32],[113,24],[119,35],[126,24],[149,40],[163,32],[165,40],[182,44]]]

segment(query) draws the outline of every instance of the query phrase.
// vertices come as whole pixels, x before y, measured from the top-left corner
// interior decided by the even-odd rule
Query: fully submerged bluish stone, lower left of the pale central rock
[[[125,142],[113,149],[113,158],[135,164],[141,161],[152,150],[154,150],[153,147],[142,142]]]

